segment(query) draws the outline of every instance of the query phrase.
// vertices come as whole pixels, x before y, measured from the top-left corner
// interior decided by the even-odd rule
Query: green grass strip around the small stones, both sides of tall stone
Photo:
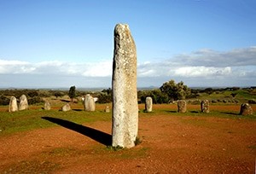
[[[108,104],[110,105],[110,104]],[[219,108],[221,107],[221,110]],[[152,113],[144,113],[144,105],[139,105],[139,117],[154,117],[158,115],[166,116],[192,116],[192,117],[219,117],[227,119],[256,119],[256,114],[248,116],[240,116],[239,105],[234,109],[234,105],[229,106],[210,106],[210,113],[201,113],[200,105],[189,105],[187,113],[177,113],[177,105],[162,104],[154,105]],[[32,131],[34,129],[47,128],[57,126],[42,117],[52,117],[55,119],[64,119],[70,122],[82,125],[84,123],[92,123],[96,121],[111,121],[111,113],[103,112],[105,105],[97,104],[96,112],[85,112],[81,106],[75,106],[69,112],[61,112],[57,109],[45,111],[39,106],[31,106],[30,110],[15,113],[7,112],[7,107],[0,107],[0,136],[6,136],[20,131]],[[255,110],[255,109],[254,109]],[[197,123],[199,124],[199,123]]]

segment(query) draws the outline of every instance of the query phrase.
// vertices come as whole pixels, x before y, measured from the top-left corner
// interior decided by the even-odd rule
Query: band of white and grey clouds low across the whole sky
[[[97,62],[42,61],[37,63],[0,60],[1,83],[2,85],[9,83],[11,86],[14,80],[9,80],[7,77],[11,77],[13,74],[14,76],[19,75],[19,77],[27,75],[27,77],[48,76],[53,79],[56,77],[61,79],[61,81],[52,80],[55,83],[61,83],[67,77],[72,81],[71,77],[75,77],[74,79],[82,79],[77,83],[90,84],[92,87],[93,85],[101,86],[102,83],[104,86],[108,80],[111,81],[112,63],[112,60]],[[226,52],[201,49],[191,54],[177,55],[169,60],[145,62],[138,60],[137,76],[138,79],[143,79],[143,86],[147,86],[147,84],[148,86],[160,85],[161,82],[168,79],[183,80],[186,84],[188,82],[193,86],[199,86],[198,82],[200,85],[209,84],[209,86],[256,85],[256,47],[233,49]],[[6,77],[4,78],[5,82],[3,77]],[[90,82],[88,82],[89,78]],[[104,84],[102,79],[105,80]],[[40,82],[40,78],[38,78],[38,82]],[[74,84],[75,82],[73,81]],[[35,84],[40,83],[35,82]],[[139,84],[140,82],[138,82]]]

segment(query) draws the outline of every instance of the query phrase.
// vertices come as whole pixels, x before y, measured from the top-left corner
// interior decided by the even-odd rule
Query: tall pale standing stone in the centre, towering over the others
[[[128,25],[114,28],[113,147],[132,148],[138,131],[137,50]]]

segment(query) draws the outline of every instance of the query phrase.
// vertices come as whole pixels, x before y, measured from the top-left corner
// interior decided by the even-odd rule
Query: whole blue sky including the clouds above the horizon
[[[111,87],[130,26],[137,85],[256,85],[255,0],[0,0],[0,87]]]

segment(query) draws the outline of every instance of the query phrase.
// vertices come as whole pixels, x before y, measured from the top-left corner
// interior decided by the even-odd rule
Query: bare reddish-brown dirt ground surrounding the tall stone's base
[[[111,134],[111,122],[83,126]],[[0,173],[255,172],[255,119],[143,114],[139,136],[121,150],[61,125],[3,136]]]

